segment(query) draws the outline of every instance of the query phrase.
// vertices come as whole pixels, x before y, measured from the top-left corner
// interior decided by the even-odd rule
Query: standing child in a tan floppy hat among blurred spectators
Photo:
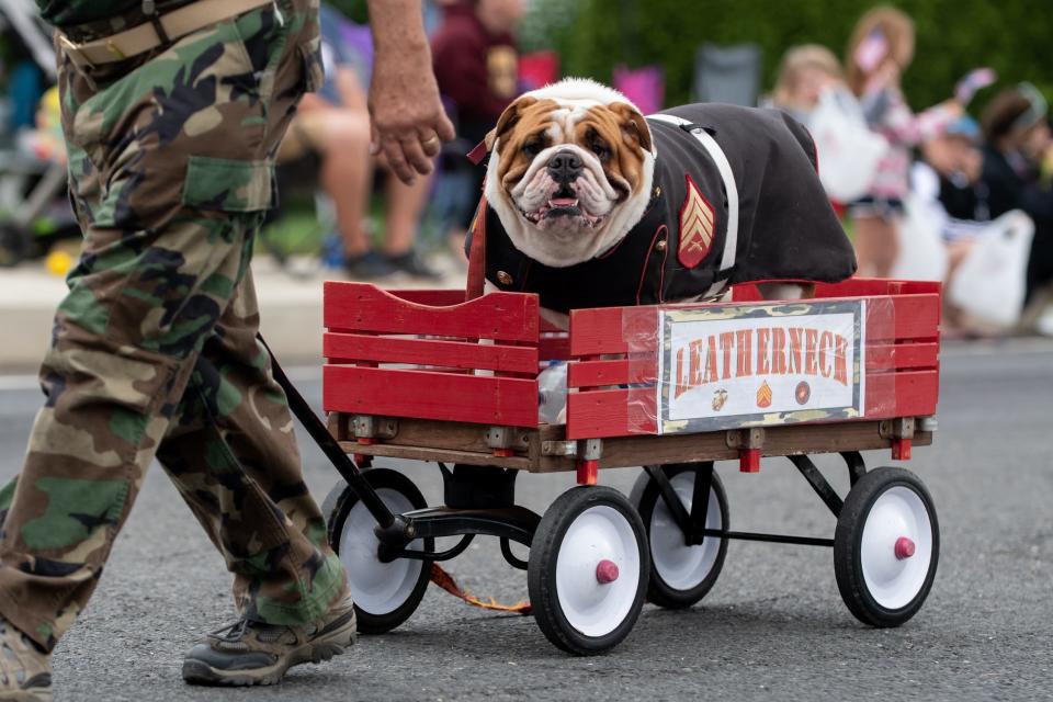
[[[953,100],[918,115],[910,111],[899,81],[913,58],[914,23],[899,10],[876,7],[856,24],[846,56],[848,87],[871,129],[890,145],[868,194],[849,207],[862,276],[886,278],[895,263],[910,148],[940,134],[963,112]]]

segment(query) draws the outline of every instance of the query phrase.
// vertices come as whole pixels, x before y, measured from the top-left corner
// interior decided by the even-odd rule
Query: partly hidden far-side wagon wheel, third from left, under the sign
[[[687,512],[691,513],[694,480],[699,471],[692,465],[669,465],[663,471]],[[705,511],[706,529],[728,528],[727,495],[714,471],[710,501]],[[688,545],[683,530],[661,498],[658,485],[647,473],[636,478],[630,500],[639,511],[650,547],[650,582],[647,599],[659,607],[682,609],[701,600],[716,582],[727,554],[727,539],[705,536],[701,544]]]

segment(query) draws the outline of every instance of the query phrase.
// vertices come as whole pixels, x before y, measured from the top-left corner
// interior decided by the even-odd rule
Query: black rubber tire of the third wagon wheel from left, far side
[[[663,471],[670,480],[688,471],[697,471],[695,467],[689,465],[668,465],[663,466]],[[721,476],[717,475],[716,471],[713,472],[713,483],[710,487],[712,492],[716,494],[716,502],[720,506],[721,510],[721,528],[724,530],[728,529],[728,520],[731,519],[728,507],[727,507],[727,492],[724,490],[724,483],[721,482]],[[633,485],[633,491],[630,494],[630,501],[636,508],[636,511],[639,512],[639,518],[644,522],[644,530],[647,532],[647,548],[650,553],[650,580],[647,585],[647,601],[658,607],[665,607],[667,609],[679,610],[691,607],[697,603],[706,593],[713,588],[716,584],[716,579],[721,575],[721,569],[724,568],[724,557],[727,555],[727,539],[721,539],[721,547],[716,554],[716,561],[713,562],[713,567],[706,574],[705,578],[702,579],[693,588],[687,590],[679,590],[668,582],[666,582],[661,575],[658,573],[658,569],[655,567],[654,554],[650,552],[652,547],[652,528],[653,518],[655,513],[655,508],[658,506],[658,502],[661,500],[661,492],[658,490],[658,485],[650,479],[650,476],[647,475],[647,472],[642,472],[639,477],[636,478],[636,483]],[[706,536],[706,539],[716,539],[716,536]]]

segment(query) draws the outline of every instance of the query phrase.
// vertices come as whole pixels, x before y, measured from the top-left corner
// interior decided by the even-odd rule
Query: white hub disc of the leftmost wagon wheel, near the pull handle
[[[381,488],[377,495],[396,514],[414,509],[409,498],[398,490]],[[340,562],[348,574],[354,603],[370,614],[382,615],[394,612],[409,599],[423,563],[410,558],[381,563],[377,557],[381,542],[373,533],[374,526],[376,520],[362,500],[358,500],[340,532]],[[423,543],[418,539],[407,548],[423,550]]]

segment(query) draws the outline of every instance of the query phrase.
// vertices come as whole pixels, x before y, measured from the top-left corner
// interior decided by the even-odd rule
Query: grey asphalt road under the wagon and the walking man
[[[280,687],[189,688],[182,655],[230,618],[228,581],[155,467],[90,608],[56,650],[56,699],[1053,699],[1053,343],[951,347],[942,370],[936,444],[910,464],[936,500],[942,557],[925,608],[898,630],[852,619],[828,550],[733,542],[702,604],[647,605],[607,656],[565,656],[532,619],[480,612],[431,588],[396,632],[297,668]],[[314,370],[296,375],[319,397]],[[0,478],[20,467],[38,401],[30,378],[0,376]],[[868,461],[888,463],[886,453]],[[335,474],[317,451],[305,449],[305,463],[320,500]],[[841,465],[819,463],[843,491]],[[407,472],[438,501],[438,469]],[[789,462],[721,473],[734,529],[833,535],[833,518]],[[601,482],[627,490],[635,474],[609,471]],[[541,510],[570,483],[524,476],[521,501]],[[524,574],[490,540],[449,569],[478,595],[526,597]]]

